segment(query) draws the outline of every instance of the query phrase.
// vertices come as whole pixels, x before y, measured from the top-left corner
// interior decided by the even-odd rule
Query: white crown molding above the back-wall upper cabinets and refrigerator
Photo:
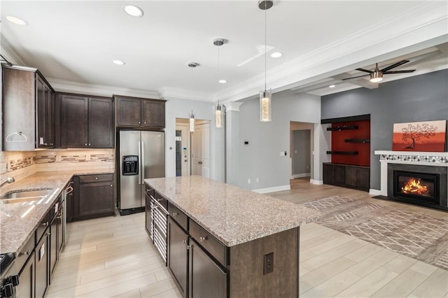
[[[69,80],[59,80],[57,78],[47,78],[47,80],[53,87],[53,89],[58,92],[90,94],[106,97],[111,97],[113,94],[120,94],[130,97],[148,97],[151,99],[160,99],[160,95],[158,94],[158,92],[154,91],[78,83]]]

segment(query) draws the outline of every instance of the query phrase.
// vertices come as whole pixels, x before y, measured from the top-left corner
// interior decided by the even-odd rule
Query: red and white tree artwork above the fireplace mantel
[[[444,152],[447,120],[395,123],[393,151]]]

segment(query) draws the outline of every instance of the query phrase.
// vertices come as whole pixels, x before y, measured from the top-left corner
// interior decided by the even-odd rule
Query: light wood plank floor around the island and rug
[[[339,195],[448,219],[441,211],[306,179],[269,195],[294,203]],[[181,295],[144,230],[144,213],[137,213],[69,224],[47,297]],[[300,297],[448,298],[448,271],[311,223],[300,228]]]

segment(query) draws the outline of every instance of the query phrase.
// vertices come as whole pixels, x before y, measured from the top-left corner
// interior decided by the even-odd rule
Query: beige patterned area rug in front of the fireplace
[[[301,205],[325,214],[318,224],[448,270],[448,215],[431,218],[342,197]]]

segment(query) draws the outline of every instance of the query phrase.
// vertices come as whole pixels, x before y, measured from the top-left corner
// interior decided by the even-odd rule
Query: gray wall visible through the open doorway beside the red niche
[[[310,173],[311,169],[311,130],[293,131],[293,175]]]

